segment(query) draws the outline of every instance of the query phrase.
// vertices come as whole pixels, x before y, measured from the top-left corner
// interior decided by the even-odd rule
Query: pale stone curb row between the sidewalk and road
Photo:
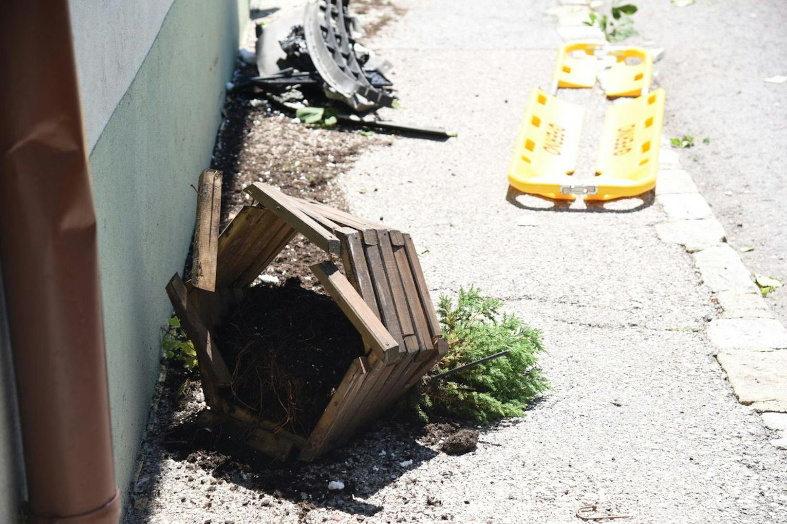
[[[716,358],[737,400],[762,413],[763,423],[781,435],[770,443],[787,449],[782,427],[787,426],[787,329],[770,312],[741,256],[726,243],[724,227],[679,165],[676,151],[662,149],[656,201],[667,220],[655,224],[656,234],[693,253],[700,279],[721,309],[720,318],[708,323]]]

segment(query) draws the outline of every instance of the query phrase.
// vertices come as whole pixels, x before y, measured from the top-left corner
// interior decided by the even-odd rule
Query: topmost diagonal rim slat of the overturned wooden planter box
[[[246,186],[246,193],[250,194],[254,200],[259,201],[282,220],[290,223],[290,226],[294,227],[306,238],[309,238],[323,251],[334,255],[342,254],[339,239],[331,231],[312,220],[305,212],[302,212],[297,204],[286,194],[260,182]]]

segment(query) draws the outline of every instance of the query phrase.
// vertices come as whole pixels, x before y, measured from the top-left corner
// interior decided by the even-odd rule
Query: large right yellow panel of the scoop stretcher
[[[604,117],[593,183],[588,200],[634,197],[656,186],[664,120],[663,89],[611,105]]]

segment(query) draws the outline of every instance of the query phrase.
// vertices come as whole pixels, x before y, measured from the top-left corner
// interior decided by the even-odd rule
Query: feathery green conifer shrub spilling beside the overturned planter
[[[507,355],[468,367],[445,378],[428,379],[416,392],[416,415],[453,415],[490,423],[523,415],[527,404],[549,384],[536,358],[543,352],[541,333],[514,315],[501,314],[503,303],[482,297],[471,286],[460,288],[456,302],[440,297],[438,314],[450,351],[433,375],[456,369],[486,356]]]

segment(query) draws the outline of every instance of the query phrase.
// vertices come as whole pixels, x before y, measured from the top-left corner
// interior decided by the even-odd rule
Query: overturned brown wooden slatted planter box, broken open
[[[199,192],[192,279],[184,283],[175,275],[167,292],[198,352],[209,406],[202,423],[234,423],[253,448],[280,459],[297,449],[298,459],[312,460],[374,420],[445,355],[448,345],[408,234],[254,183],[246,192],[260,205],[242,208],[219,235],[220,173],[203,172]],[[311,269],[357,328],[366,352],[353,360],[309,435],[287,432],[233,402],[231,374],[216,349],[221,341],[212,337],[297,233],[327,253],[328,260]]]

